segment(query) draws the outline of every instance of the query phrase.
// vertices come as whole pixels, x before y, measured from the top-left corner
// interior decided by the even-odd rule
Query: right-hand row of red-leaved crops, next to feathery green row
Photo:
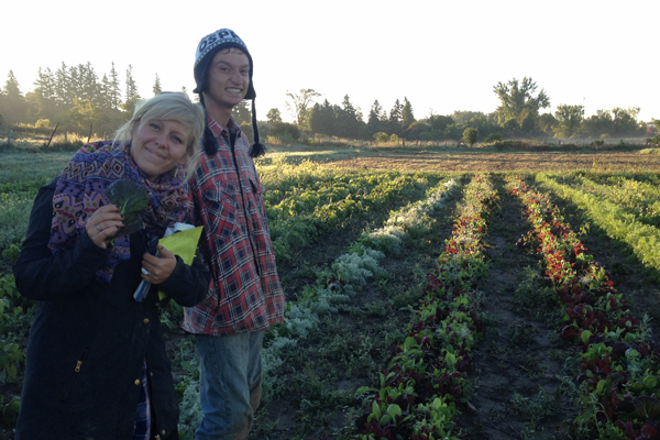
[[[580,413],[572,429],[584,439],[658,439],[660,351],[646,321],[625,300],[544,194],[509,179],[563,305],[561,336],[580,353]]]

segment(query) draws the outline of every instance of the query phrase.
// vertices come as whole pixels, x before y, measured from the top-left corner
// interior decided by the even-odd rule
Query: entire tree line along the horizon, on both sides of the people
[[[185,91],[185,87],[182,88]],[[156,74],[152,92],[161,91]],[[454,111],[452,114],[429,114],[416,119],[407,97],[397,99],[389,110],[376,99],[365,116],[344,96],[341,105],[327,99],[318,102],[321,94],[314,89],[286,92],[286,107],[294,123],[282,121],[279,109],[271,109],[261,122],[265,134],[300,132],[345,139],[386,139],[395,135],[410,141],[460,140],[468,129],[470,139],[493,138],[618,138],[654,134],[652,124],[637,120],[639,108],[598,110],[584,118],[584,106],[559,105],[552,112],[550,97],[528,77],[514,78],[493,87],[501,105],[491,113]],[[19,81],[10,70],[4,87],[0,88],[0,125],[32,124],[44,133],[55,123],[63,131],[110,135],[133,111],[141,99],[129,65],[123,73],[123,87],[114,63],[109,73],[99,76],[90,63],[67,66],[62,63],[55,72],[40,68],[34,87],[22,94]],[[251,114],[246,102],[235,109],[234,117],[251,134]]]

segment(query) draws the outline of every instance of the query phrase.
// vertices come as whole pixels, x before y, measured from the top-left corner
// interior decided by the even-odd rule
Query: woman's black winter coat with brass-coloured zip
[[[155,305],[157,289],[182,306],[195,306],[210,274],[196,260],[177,257],[172,276],[152,287],[144,302],[142,232],[131,235],[131,257],[112,282],[95,274],[110,250],[82,234],[74,249],[53,255],[51,237],[55,180],[40,189],[25,242],[13,267],[21,295],[40,300],[30,330],[16,440],[128,440],[132,438],[140,381],[146,361],[154,439],[178,438],[178,400]]]

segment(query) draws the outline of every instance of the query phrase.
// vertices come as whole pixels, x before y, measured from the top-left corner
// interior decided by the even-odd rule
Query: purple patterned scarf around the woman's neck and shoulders
[[[167,227],[186,220],[190,206],[177,169],[150,182],[131,158],[130,148],[130,143],[124,146],[113,141],[85,145],[59,174],[48,242],[54,254],[73,249],[78,237],[86,233],[87,218],[110,204],[105,190],[114,180],[131,179],[148,189],[148,206],[140,212],[148,232],[163,237]],[[117,237],[108,261],[97,272],[97,280],[110,283],[114,266],[130,256],[129,235]]]

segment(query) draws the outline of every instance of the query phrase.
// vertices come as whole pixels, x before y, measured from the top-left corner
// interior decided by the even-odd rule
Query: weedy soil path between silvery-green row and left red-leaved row
[[[344,439],[365,411],[355,392],[376,385],[387,367],[388,350],[404,338],[411,319],[407,306],[417,304],[425,275],[444,240],[451,235],[452,211],[460,191],[435,216],[431,228],[403,245],[400,254],[378,262],[384,270],[367,280],[338,312],[321,322],[305,341],[287,350],[273,372],[278,389],[264,402],[249,440]],[[338,238],[328,252],[309,250],[307,264],[329,264],[345,252],[349,240]],[[294,282],[299,287],[299,282]]]

